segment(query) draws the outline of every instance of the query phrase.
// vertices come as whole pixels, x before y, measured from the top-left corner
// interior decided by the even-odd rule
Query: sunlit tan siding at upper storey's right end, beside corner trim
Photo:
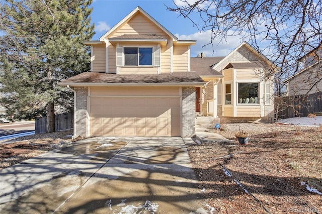
[[[173,71],[187,72],[188,71],[188,46],[174,46],[173,56]]]

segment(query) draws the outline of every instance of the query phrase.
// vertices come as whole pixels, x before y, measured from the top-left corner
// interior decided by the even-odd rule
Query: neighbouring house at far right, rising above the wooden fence
[[[309,95],[322,92],[321,58],[322,46],[319,46],[299,59],[303,69],[283,81],[287,87],[287,95]]]

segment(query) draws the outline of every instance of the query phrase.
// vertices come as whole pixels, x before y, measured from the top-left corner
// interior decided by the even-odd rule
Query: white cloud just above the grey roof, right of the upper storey
[[[244,40],[238,36],[227,37],[226,40],[220,41],[220,38],[215,38],[211,44],[211,31],[197,32],[191,35],[179,35],[176,37],[182,40],[197,40],[196,45],[191,46],[191,57],[196,57],[198,53],[205,53],[206,56],[226,56]],[[205,47],[202,47],[206,45]]]

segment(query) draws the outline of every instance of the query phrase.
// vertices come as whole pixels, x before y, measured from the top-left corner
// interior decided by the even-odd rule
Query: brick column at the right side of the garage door
[[[196,127],[196,88],[182,87],[182,137],[195,135]]]

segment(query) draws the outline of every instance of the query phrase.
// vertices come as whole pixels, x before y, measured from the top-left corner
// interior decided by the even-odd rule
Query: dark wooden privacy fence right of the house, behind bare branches
[[[279,119],[307,117],[314,112],[322,112],[322,92],[275,97],[275,114]]]

